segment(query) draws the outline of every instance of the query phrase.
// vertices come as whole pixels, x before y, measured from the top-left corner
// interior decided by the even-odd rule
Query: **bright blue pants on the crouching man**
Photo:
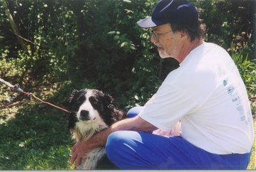
[[[132,117],[141,108],[133,108]],[[117,131],[108,137],[106,153],[120,169],[246,169],[248,154],[218,155],[195,147],[180,136],[164,137],[137,131]]]

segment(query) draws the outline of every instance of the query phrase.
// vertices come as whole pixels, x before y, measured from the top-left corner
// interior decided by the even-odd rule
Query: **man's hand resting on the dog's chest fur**
[[[81,160],[90,151],[90,148],[86,145],[86,142],[77,141],[77,143],[72,147],[72,157],[70,159],[70,164],[76,161],[76,166],[80,166]]]

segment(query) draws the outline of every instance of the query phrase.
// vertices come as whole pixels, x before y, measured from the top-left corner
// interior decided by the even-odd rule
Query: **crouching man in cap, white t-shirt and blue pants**
[[[162,58],[180,67],[133,118],[116,122],[72,148],[71,162],[95,147],[106,147],[120,169],[246,169],[252,151],[253,120],[248,95],[230,55],[204,42],[204,29],[188,1],[159,1],[152,17],[138,22],[152,28],[150,41]],[[180,121],[181,135],[169,131]]]

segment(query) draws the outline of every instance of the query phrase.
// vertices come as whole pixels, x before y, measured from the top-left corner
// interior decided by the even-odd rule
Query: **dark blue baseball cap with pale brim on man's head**
[[[187,0],[161,0],[154,8],[152,16],[138,21],[137,24],[148,28],[173,22],[193,23],[197,20],[198,11]]]

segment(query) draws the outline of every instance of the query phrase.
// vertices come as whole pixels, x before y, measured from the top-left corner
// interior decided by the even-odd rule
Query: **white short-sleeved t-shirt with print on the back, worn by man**
[[[245,154],[254,138],[252,111],[230,55],[203,43],[169,73],[139,114],[159,129],[181,120],[181,136],[214,154]]]

